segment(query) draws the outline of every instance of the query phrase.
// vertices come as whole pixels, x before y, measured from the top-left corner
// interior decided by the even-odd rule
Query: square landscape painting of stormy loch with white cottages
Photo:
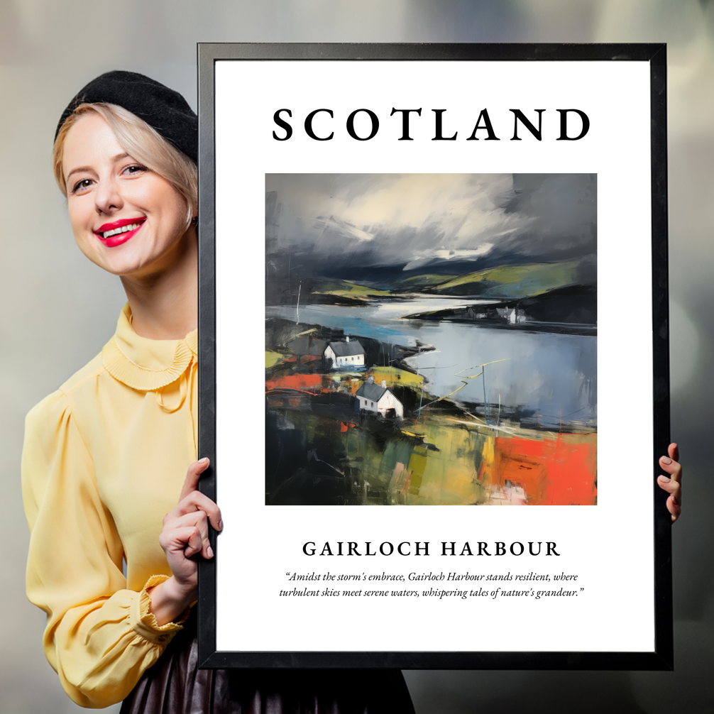
[[[266,174],[270,506],[597,503],[595,174]]]

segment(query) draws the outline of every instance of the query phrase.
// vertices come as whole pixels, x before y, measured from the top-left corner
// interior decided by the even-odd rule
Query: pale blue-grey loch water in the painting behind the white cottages
[[[545,428],[571,422],[594,427],[596,336],[528,331],[523,326],[483,326],[477,321],[407,318],[489,302],[418,295],[383,298],[359,306],[268,306],[266,317],[341,329],[351,338],[364,336],[410,348],[428,346],[406,362],[426,377],[426,389],[434,396],[446,396],[461,387],[453,399],[483,404],[485,393],[489,411],[496,410],[499,403],[504,410],[517,407],[533,411]],[[482,368],[484,363],[490,364]]]

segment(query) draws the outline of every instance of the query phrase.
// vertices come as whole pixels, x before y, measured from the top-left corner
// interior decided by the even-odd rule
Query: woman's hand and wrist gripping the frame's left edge
[[[178,618],[198,597],[198,563],[194,556],[201,553],[207,560],[213,558],[208,521],[216,531],[223,530],[221,509],[198,491],[198,479],[209,463],[208,458],[202,458],[188,467],[178,504],[164,516],[159,544],[173,575],[149,590],[150,610],[159,625]]]

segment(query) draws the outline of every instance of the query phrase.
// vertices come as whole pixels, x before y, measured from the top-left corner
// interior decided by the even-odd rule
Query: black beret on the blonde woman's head
[[[177,91],[136,72],[106,72],[79,90],[62,113],[54,138],[80,104],[117,104],[144,119],[167,141],[198,161],[198,116]]]

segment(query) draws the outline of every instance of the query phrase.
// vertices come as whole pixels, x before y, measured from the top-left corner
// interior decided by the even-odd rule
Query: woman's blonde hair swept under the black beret
[[[52,168],[59,190],[67,196],[62,172],[64,141],[83,114],[94,112],[109,124],[124,151],[159,176],[166,178],[186,201],[186,229],[198,211],[198,167],[196,163],[166,141],[156,129],[136,114],[117,104],[80,104],[62,124],[52,151]]]

